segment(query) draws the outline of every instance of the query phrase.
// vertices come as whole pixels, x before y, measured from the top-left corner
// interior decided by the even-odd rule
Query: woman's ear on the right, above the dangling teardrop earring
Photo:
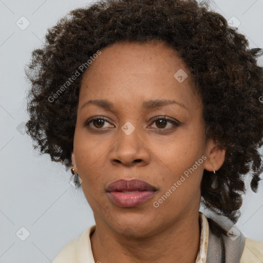
[[[219,170],[224,162],[225,155],[226,150],[220,149],[216,142],[210,140],[206,146],[206,160],[204,162],[204,169],[211,172],[214,170]]]

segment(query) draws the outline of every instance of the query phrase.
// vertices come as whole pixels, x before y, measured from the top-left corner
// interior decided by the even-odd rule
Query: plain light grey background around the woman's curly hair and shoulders
[[[39,157],[30,138],[23,135],[23,122],[28,120],[24,66],[30,52],[41,46],[47,28],[59,17],[87,3],[84,0],[0,0],[1,263],[51,262],[66,243],[95,223],[82,190],[68,183],[70,171],[52,163],[49,156]],[[246,34],[251,48],[263,47],[263,0],[210,3]],[[16,25],[16,21],[25,19],[22,16],[30,22],[25,30]],[[262,58],[258,61],[262,66]],[[263,182],[258,194],[247,192],[242,216],[236,224],[245,236],[260,241],[263,241],[262,197]],[[16,236],[22,227],[30,232],[25,241]]]

